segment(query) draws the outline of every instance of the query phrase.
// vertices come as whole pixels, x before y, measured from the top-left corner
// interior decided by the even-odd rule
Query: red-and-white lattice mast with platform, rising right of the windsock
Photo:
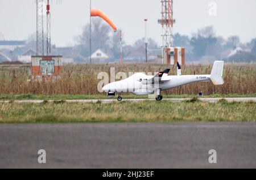
[[[162,25],[162,38],[163,47],[173,47],[174,46],[174,34],[173,27],[175,19],[173,17],[173,0],[162,0],[162,19],[158,20],[158,23]]]

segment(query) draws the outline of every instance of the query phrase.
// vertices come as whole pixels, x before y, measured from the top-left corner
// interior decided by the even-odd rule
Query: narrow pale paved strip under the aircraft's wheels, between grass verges
[[[163,99],[163,101],[170,101],[170,102],[182,102],[190,100],[191,98],[170,98],[170,99]],[[200,101],[214,103],[219,101],[220,99],[226,99],[228,102],[256,102],[256,98],[199,98]],[[122,101],[129,101],[129,102],[141,102],[141,101],[155,101],[155,99],[123,99]],[[102,103],[112,103],[117,102],[117,99],[81,99],[81,100],[67,100],[68,103],[97,103],[101,101]],[[0,101],[1,102],[10,102],[10,101]],[[17,103],[43,103],[43,100],[21,100],[21,101],[13,101]],[[53,102],[50,100],[48,102]]]

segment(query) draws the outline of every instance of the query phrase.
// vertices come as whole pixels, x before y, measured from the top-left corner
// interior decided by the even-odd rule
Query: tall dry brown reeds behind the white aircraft
[[[156,64],[102,64],[102,65],[65,65],[62,78],[53,83],[27,82],[30,67],[0,65],[0,94],[35,94],[35,95],[101,95],[98,93],[97,74],[110,73],[115,67],[115,73],[125,72],[159,72],[170,68],[170,65]],[[210,74],[212,65],[187,65],[183,74]],[[176,74],[176,67],[171,66],[171,74]],[[226,64],[224,72],[225,84],[213,86],[212,83],[194,83],[166,91],[167,94],[197,94],[203,91],[210,94],[255,94],[256,65]]]

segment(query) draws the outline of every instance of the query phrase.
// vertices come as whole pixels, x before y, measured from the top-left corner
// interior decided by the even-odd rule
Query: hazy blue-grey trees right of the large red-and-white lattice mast
[[[216,36],[212,26],[201,28],[192,37],[175,34],[174,45],[187,49],[188,61],[256,61],[256,38],[249,43],[241,43],[238,36],[230,36],[225,39],[222,36]]]

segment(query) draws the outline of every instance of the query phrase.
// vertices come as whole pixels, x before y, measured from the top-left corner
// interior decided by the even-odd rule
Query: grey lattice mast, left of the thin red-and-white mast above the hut
[[[36,55],[44,55],[43,0],[36,0]]]

